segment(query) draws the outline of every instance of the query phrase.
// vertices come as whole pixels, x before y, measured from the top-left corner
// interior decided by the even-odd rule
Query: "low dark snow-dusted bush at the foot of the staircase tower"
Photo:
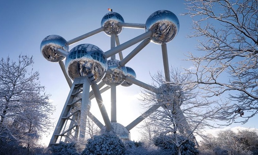
[[[60,142],[56,146],[51,146],[50,151],[52,152],[52,155],[79,155],[75,143]]]

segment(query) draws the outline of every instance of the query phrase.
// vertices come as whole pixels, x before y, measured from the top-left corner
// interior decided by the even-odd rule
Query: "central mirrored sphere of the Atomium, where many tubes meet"
[[[107,85],[120,85],[125,81],[127,70],[125,66],[120,66],[119,60],[108,60],[108,69],[111,70],[110,74],[106,74],[103,78],[103,82]]]

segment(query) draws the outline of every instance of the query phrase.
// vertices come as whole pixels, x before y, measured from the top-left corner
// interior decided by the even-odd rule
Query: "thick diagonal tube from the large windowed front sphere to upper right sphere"
[[[128,48],[128,47],[130,47],[130,46],[132,46],[132,45],[134,45],[134,44],[136,44],[136,43],[146,39],[146,38],[149,38],[151,35],[152,35],[152,32],[151,31],[147,31],[147,32],[145,32],[145,33],[143,33],[143,34],[141,34],[141,35],[139,35],[139,36],[137,36],[137,37],[135,37],[135,38],[125,42],[125,43],[122,43],[121,45],[106,51],[105,52],[106,57],[109,58],[110,56],[112,56],[114,54],[117,54],[118,52],[120,52],[120,51],[122,51],[122,50],[124,50],[124,49],[126,49],[126,48]]]

